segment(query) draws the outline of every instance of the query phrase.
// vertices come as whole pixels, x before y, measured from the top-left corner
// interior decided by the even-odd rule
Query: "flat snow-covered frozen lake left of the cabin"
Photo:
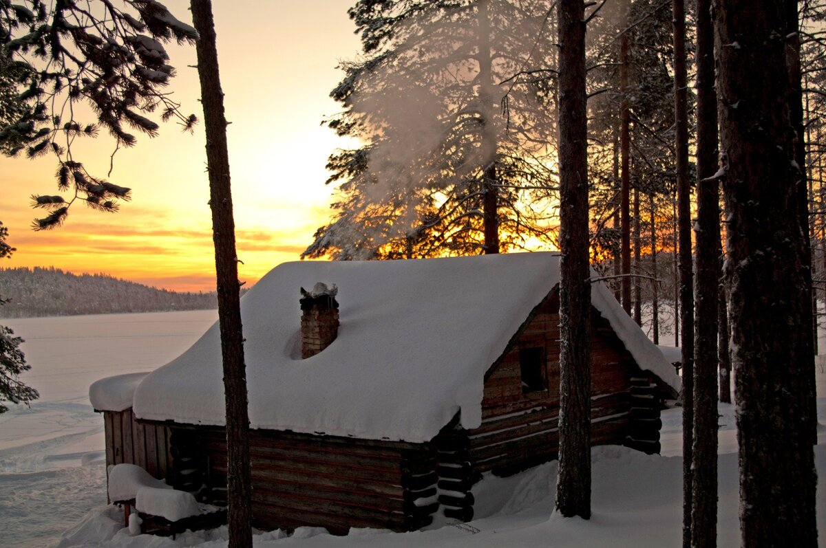
[[[53,546],[89,508],[106,502],[103,419],[88,387],[151,371],[186,350],[217,310],[3,319],[26,339],[22,380],[40,392],[0,414],[0,531],[6,548]]]

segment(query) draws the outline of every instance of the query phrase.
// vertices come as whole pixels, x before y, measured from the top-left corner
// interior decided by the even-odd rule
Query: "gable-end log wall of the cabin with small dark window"
[[[532,313],[506,352],[488,371],[482,399],[482,426],[468,432],[470,461],[475,470],[510,475],[558,455],[559,300],[554,290]],[[545,390],[524,392],[520,349],[543,347]],[[632,378],[634,381],[632,382]],[[643,379],[644,380],[637,380]],[[659,399],[608,321],[591,309],[591,444],[629,444],[658,451]],[[643,386],[644,385],[644,386]],[[645,411],[638,403],[644,394]],[[637,394],[640,394],[639,396]],[[657,409],[657,420],[648,420]],[[645,416],[645,423],[637,416]],[[632,426],[638,437],[630,437]],[[631,445],[633,443],[633,445]]]

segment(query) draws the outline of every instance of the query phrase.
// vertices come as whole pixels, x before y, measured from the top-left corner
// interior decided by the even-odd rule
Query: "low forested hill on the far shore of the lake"
[[[177,293],[105,274],[0,268],[0,318],[216,309],[215,292]]]

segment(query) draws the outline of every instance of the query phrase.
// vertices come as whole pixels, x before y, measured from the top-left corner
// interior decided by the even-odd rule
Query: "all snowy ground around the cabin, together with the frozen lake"
[[[0,415],[3,546],[226,546],[225,528],[186,533],[176,541],[128,535],[122,528],[120,511],[105,505],[102,419],[93,413],[85,396],[91,380],[145,371],[169,361],[194,342],[215,314],[8,320],[18,334],[29,339],[24,349],[37,371],[27,380],[44,398],[31,409]],[[115,364],[113,357],[117,357]],[[826,423],[826,356],[819,358],[818,414],[820,422]],[[733,407],[721,404],[719,409],[723,425],[719,434],[719,546],[739,546]],[[821,427],[815,458],[824,478],[826,427]],[[680,409],[663,413],[661,456],[604,446],[594,449],[592,460],[593,517],[587,522],[552,515],[556,463],[548,463],[512,478],[489,477],[477,484],[477,518],[468,524],[443,523],[430,531],[406,534],[359,530],[344,537],[310,528],[299,529],[292,536],[273,531],[256,536],[255,546],[679,546]],[[826,538],[824,480],[819,481],[818,524],[821,537]],[[821,541],[821,545],[826,546],[826,542]]]

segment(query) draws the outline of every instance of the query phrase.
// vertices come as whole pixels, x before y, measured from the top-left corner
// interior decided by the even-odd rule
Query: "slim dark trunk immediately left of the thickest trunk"
[[[697,8],[697,277],[694,324],[694,446],[691,546],[717,543],[717,320],[719,306],[719,184],[714,27],[710,0]],[[686,501],[689,502],[689,501]]]

